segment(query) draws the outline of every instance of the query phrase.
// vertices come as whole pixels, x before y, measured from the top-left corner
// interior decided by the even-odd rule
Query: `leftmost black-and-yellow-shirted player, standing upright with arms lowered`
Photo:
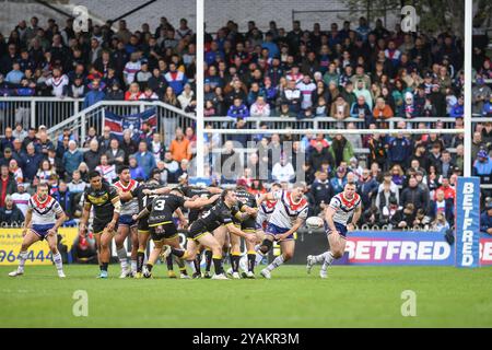
[[[84,208],[79,230],[81,235],[85,234],[91,208],[94,208],[92,228],[99,258],[99,278],[107,278],[107,266],[110,258],[109,244],[117,230],[121,202],[116,188],[103,183],[103,177],[98,172],[91,172],[89,180],[90,186],[84,191]]]

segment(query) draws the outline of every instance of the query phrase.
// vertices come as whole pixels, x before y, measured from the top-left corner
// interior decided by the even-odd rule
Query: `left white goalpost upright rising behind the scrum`
[[[203,61],[204,61],[204,0],[197,0],[197,176],[204,176],[203,152]]]

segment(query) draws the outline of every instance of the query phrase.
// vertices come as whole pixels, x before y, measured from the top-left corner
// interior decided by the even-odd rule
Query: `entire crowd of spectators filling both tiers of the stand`
[[[71,31],[70,20],[59,31],[56,22],[40,28],[33,18],[8,39],[0,36],[1,94],[83,96],[85,106],[104,98],[160,100],[192,112],[194,42],[186,20],[174,28],[163,18],[153,33],[147,24],[130,33],[120,21],[116,33],[109,25],[91,25],[90,33],[80,35]],[[132,178],[177,183],[188,174],[196,148],[203,147],[210,161],[206,175],[218,185],[241,183],[260,192],[273,182],[288,186],[302,173],[311,214],[318,214],[347,182],[355,182],[362,223],[395,229],[453,224],[456,178],[464,172],[462,135],[409,136],[406,121],[397,124],[398,135],[241,133],[251,116],[301,121],[353,117],[366,128],[383,129],[394,117],[433,118],[418,127],[438,129],[449,126],[441,118],[454,117],[452,127],[462,128],[461,42],[450,31],[435,36],[406,34],[399,27],[389,32],[380,21],[372,27],[361,19],[354,30],[344,22],[341,30],[333,23],[328,32],[319,24],[303,31],[298,22],[286,32],[271,22],[261,33],[251,21],[247,33],[239,33],[230,21],[215,37],[206,34],[204,58],[206,116],[236,118],[236,132],[223,139],[206,129],[204,144],[197,145],[194,128],[178,128],[164,142],[144,124],[138,140],[129,131],[118,139],[108,128],[89,129],[85,140],[67,129],[50,140],[45,127],[19,122],[5,128],[0,143],[0,208],[17,218],[12,208],[25,212],[33,188],[48,182],[77,219],[90,171],[112,183],[118,166],[128,164]],[[473,65],[473,113],[491,117],[492,71],[480,48]],[[340,126],[355,129],[354,122]],[[492,184],[492,122],[476,124],[473,132],[473,175]],[[257,143],[243,154],[239,149],[248,141]],[[284,149],[286,141],[292,152]],[[360,149],[368,153],[361,155]],[[221,166],[231,161],[237,166],[227,177]],[[259,179],[263,167],[266,176]],[[485,202],[491,194],[483,195]]]

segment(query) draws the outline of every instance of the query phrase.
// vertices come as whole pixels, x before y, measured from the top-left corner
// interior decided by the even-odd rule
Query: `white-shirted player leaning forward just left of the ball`
[[[301,228],[307,218],[307,200],[304,198],[304,185],[295,184],[291,191],[279,190],[265,196],[266,200],[277,200],[265,233],[265,240],[257,252],[259,256],[267,254],[273,246],[273,242],[280,243],[282,254],[278,256],[260,275],[271,278],[271,271],[294,256],[294,233]]]

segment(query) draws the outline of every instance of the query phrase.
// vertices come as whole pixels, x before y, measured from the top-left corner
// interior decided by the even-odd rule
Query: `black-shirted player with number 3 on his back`
[[[155,190],[151,190],[150,194],[155,195]],[[199,209],[212,203],[218,198],[219,195],[209,199],[197,198],[195,200],[186,200],[180,196],[179,191],[173,189],[167,195],[159,195],[155,197],[151,203],[148,203],[145,209],[138,215],[134,215],[134,220],[140,220],[141,218],[149,215],[149,229],[152,240],[154,241],[154,249],[149,257],[147,265],[148,273],[145,273],[145,277],[151,276],[152,267],[161,255],[164,244],[167,244],[166,247],[168,249],[171,249],[169,244],[172,244],[174,248],[179,248],[179,240],[176,225],[173,222],[173,213],[177,211],[179,219],[186,221],[179,210],[180,207]],[[169,254],[165,254],[164,256],[167,258]]]

